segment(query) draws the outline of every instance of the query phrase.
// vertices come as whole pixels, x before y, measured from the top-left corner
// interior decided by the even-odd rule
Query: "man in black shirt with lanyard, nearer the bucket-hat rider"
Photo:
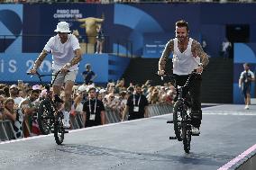
[[[96,88],[88,89],[89,98],[83,105],[85,127],[105,124],[105,107],[100,100],[96,99]]]

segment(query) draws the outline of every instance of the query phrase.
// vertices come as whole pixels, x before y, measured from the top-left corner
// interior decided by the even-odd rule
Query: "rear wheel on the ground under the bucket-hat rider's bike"
[[[63,112],[58,112],[54,122],[54,138],[58,145],[61,145],[64,140],[65,129],[63,127]]]

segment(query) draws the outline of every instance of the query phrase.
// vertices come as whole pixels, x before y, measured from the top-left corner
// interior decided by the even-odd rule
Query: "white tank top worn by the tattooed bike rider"
[[[194,69],[198,68],[200,64],[200,58],[193,57],[191,51],[191,45],[193,39],[189,38],[187,49],[182,53],[178,49],[178,39],[175,38],[174,40],[174,51],[173,51],[173,74],[176,75],[188,75]]]

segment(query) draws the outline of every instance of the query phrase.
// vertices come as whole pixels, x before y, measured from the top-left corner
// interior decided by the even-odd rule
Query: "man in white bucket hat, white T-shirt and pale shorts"
[[[75,35],[69,34],[71,31],[69,31],[68,22],[59,22],[55,32],[58,34],[48,40],[41,54],[35,60],[30,73],[35,74],[43,59],[51,52],[53,74],[60,70],[60,74],[53,84],[53,91],[54,94],[59,95],[61,85],[65,83],[64,127],[69,128],[72,87],[78,74],[78,63],[82,58],[78,39]]]

